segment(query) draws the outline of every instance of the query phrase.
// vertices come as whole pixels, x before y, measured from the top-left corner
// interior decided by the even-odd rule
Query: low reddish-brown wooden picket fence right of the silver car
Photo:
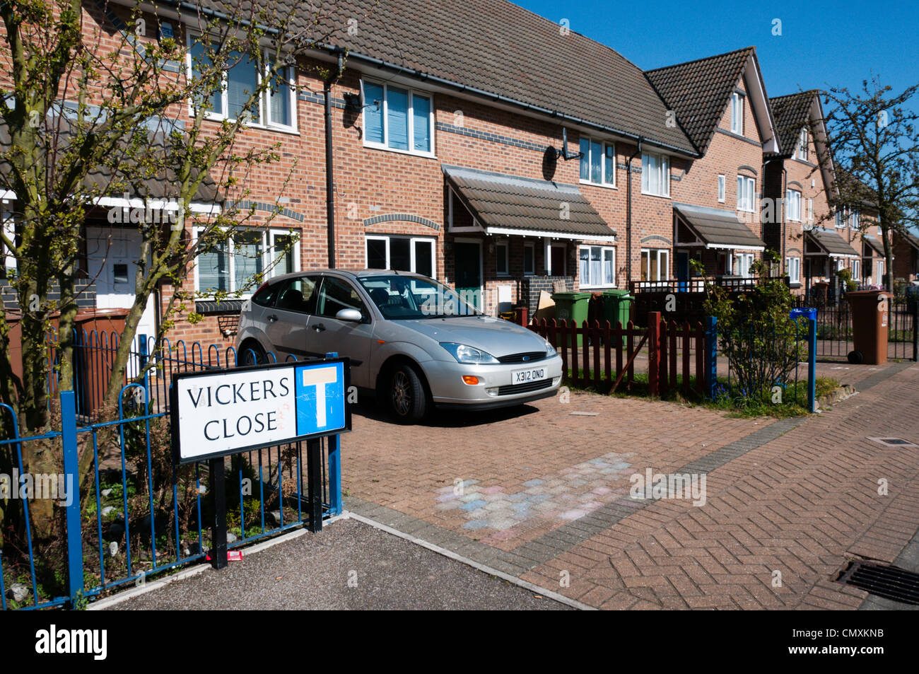
[[[565,379],[575,387],[608,389],[610,393],[620,387],[630,390],[635,383],[635,360],[643,351],[652,396],[677,389],[684,395],[704,395],[707,390],[706,335],[701,323],[668,323],[659,312],[651,312],[648,327],[637,327],[631,321],[624,327],[608,321],[584,321],[578,326],[574,321],[545,318],[528,327],[556,348],[566,365]]]

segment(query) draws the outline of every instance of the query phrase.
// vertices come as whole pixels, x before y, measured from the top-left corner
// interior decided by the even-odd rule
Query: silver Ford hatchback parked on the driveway
[[[243,305],[240,360],[351,360],[351,383],[414,423],[432,406],[478,410],[554,395],[562,358],[525,327],[473,309],[443,283],[402,271],[318,271],[264,283]]]

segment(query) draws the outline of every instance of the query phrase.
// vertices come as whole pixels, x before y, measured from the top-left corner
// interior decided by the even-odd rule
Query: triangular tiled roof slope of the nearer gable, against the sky
[[[734,85],[754,52],[746,47],[645,73],[700,153],[708,149]]]

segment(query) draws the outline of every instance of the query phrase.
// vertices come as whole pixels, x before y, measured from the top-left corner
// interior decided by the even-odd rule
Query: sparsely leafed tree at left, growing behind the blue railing
[[[278,145],[240,151],[239,134],[278,90],[297,87],[295,78],[289,79],[296,69],[289,66],[304,67],[298,57],[340,28],[334,11],[334,2],[191,0],[183,7],[186,20],[174,29],[175,19],[158,16],[157,10],[143,13],[81,0],[0,0],[5,89],[0,192],[15,199],[11,226],[5,223],[0,243],[6,258],[15,261],[8,282],[21,311],[22,354],[20,377],[13,368],[11,326],[0,313],[0,400],[16,410],[20,433],[48,427],[49,392],[73,387],[87,215],[123,193],[144,203],[172,204],[169,217],[137,223],[142,246],[135,299],[108,382],[111,406],[157,285],[187,278],[200,253],[229,246],[246,223],[249,213],[233,204],[250,193],[255,168],[278,161],[279,152]],[[226,73],[239,63],[255,65],[251,90],[236,97],[232,115],[206,121],[214,117],[210,113],[216,112]],[[219,208],[193,208],[202,200]],[[192,226],[197,238],[189,235]],[[173,325],[182,301],[182,293],[173,296],[163,331]],[[22,450],[27,471],[54,472],[58,457],[53,452],[31,451],[28,443]],[[81,458],[84,474],[91,454]],[[50,525],[46,515],[36,518],[37,527]]]

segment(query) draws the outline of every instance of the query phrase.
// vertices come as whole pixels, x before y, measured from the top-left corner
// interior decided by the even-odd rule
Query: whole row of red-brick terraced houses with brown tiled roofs
[[[120,1],[86,0],[86,29],[117,29],[113,16],[132,6]],[[289,69],[296,87],[244,131],[242,146],[279,143],[282,160],[247,177],[251,233],[199,257],[183,281],[200,293],[188,311],[205,319],[178,321],[174,337],[232,341],[233,315],[276,248],[295,242],[272,274],[328,265],[330,218],[335,266],[427,274],[491,314],[533,309],[558,288],[679,288],[698,274],[692,260],[708,276],[746,278],[766,248],[796,292],[839,268],[867,283],[884,272],[879,235],[860,231],[869,205],[835,203],[817,92],[770,98],[753,47],[645,72],[504,0],[345,0],[335,17],[330,43]],[[146,20],[184,38],[193,18],[166,2]],[[337,75],[329,124],[317,64]],[[207,123],[233,118],[249,70],[227,73]],[[15,195],[3,196],[15,211]],[[779,208],[764,210],[764,198]],[[95,291],[83,302],[130,305],[137,237],[101,211],[87,218]],[[215,290],[240,297],[210,302]],[[158,289],[141,333],[153,334],[175,291]]]

